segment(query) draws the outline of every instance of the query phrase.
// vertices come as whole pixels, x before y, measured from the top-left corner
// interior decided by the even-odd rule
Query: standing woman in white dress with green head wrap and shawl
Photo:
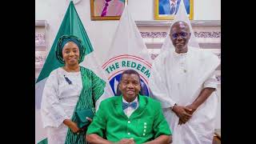
[[[73,35],[63,35],[58,40],[56,57],[64,66],[50,73],[42,94],[42,122],[48,144],[86,143],[86,130],[78,128],[75,112],[90,108],[94,111],[106,82],[92,70],[79,66],[85,52],[82,41]]]

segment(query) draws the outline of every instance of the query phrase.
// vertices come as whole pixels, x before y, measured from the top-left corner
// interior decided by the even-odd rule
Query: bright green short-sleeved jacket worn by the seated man
[[[160,102],[143,95],[138,95],[138,102],[138,108],[127,118],[122,110],[122,95],[106,98],[86,134],[98,134],[111,142],[134,138],[136,143],[151,141],[162,134],[170,135]]]

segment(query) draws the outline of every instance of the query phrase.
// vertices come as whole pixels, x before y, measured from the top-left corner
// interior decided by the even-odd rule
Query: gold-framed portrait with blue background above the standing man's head
[[[154,19],[171,20],[178,12],[179,4],[182,0],[154,0]],[[187,16],[191,19],[194,17],[193,0],[183,0]]]

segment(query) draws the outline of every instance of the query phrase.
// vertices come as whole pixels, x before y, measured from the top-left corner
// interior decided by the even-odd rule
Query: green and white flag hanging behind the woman
[[[78,17],[78,13],[75,10],[74,3],[72,1],[70,2],[68,9],[66,10],[66,14],[58,30],[58,34],[54,39],[54,43],[51,46],[50,52],[46,58],[46,62],[42,67],[42,71],[39,74],[35,84],[35,141],[40,143],[47,143],[47,140],[45,139],[46,131],[42,128],[42,120],[40,114],[42,91],[50,72],[60,66],[63,66],[63,64],[58,62],[55,56],[54,49],[57,46],[58,38],[60,38],[64,34],[72,34],[80,38],[83,44],[86,46],[86,54],[90,54],[93,51],[93,47],[91,46],[90,40],[86,34],[86,30],[83,27],[80,18]]]

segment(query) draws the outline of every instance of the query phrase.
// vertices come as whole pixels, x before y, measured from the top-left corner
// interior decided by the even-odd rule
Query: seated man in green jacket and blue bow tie
[[[138,94],[141,90],[138,72],[125,70],[118,88],[121,96],[101,102],[86,140],[93,144],[171,142],[160,102]]]

